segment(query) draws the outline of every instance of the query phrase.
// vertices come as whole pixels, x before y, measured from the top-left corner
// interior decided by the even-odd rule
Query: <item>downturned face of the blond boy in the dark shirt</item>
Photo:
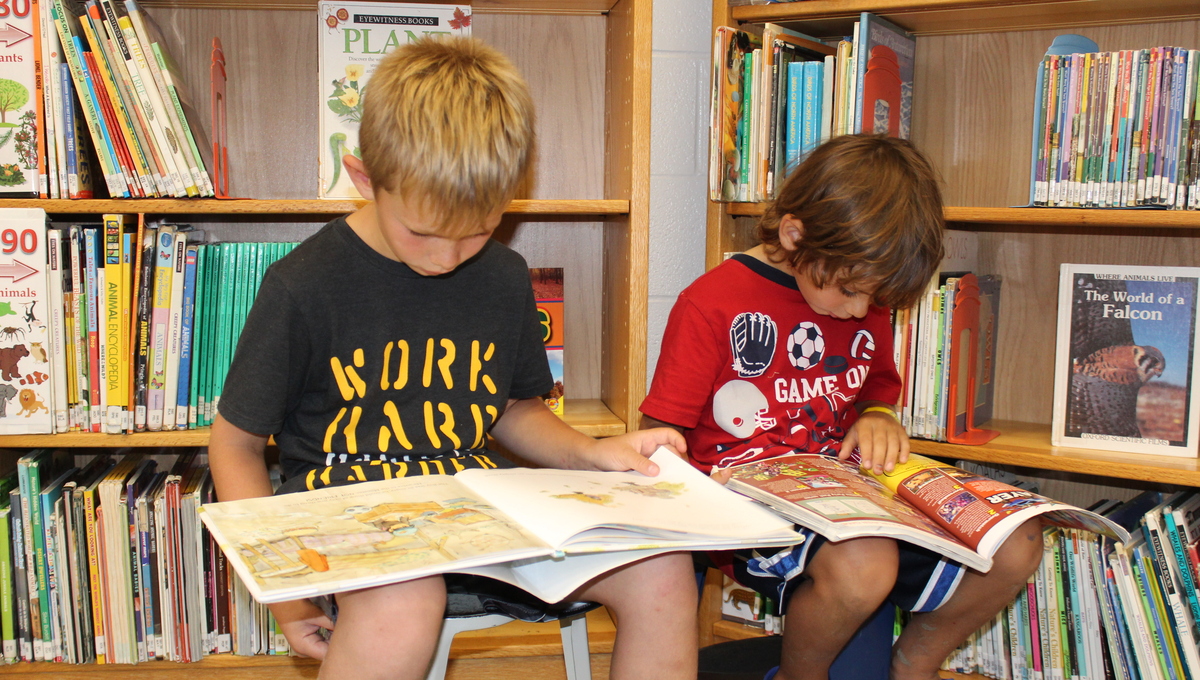
[[[442,224],[398,195],[374,191],[379,240],[385,257],[402,261],[421,276],[449,273],[479,254],[500,224],[504,209],[488,215],[482,224],[464,235],[446,236]]]

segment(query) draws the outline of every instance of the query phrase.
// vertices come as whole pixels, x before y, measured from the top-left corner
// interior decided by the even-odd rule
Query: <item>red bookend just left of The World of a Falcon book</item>
[[[966,335],[966,339],[964,339]],[[977,385],[977,367],[979,362],[979,279],[973,273],[964,275],[959,279],[959,289],[954,294],[954,315],[950,321],[950,389],[949,411],[947,419],[949,427],[946,431],[946,440],[950,444],[980,445],[1000,437],[995,429],[983,429],[974,426],[974,404]],[[962,360],[966,366],[966,426],[961,432],[956,429],[959,404],[959,387],[962,375]]]

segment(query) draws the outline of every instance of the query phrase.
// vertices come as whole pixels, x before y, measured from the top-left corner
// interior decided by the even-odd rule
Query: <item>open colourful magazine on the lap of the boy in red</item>
[[[730,488],[830,541],[889,536],[984,572],[1004,538],[1037,516],[1048,524],[1129,540],[1128,531],[1094,512],[917,455],[883,475],[816,455],[780,456],[731,470]]]

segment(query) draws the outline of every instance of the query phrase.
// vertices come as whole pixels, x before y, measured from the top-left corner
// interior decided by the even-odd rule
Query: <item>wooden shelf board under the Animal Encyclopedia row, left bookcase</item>
[[[613,437],[625,433],[625,422],[613,415],[600,399],[568,399],[564,419],[571,427],[589,437]],[[61,434],[5,434],[0,446],[29,449],[60,446],[79,449],[92,446],[208,446],[209,428],[137,434],[103,434],[95,432],[64,432]]]

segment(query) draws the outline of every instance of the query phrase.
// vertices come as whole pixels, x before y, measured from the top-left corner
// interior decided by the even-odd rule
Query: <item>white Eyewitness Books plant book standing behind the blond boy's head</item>
[[[342,171],[342,156],[359,154],[362,95],[376,66],[392,49],[424,36],[469,36],[469,5],[414,2],[318,4],[320,50],[319,195],[360,198]]]

